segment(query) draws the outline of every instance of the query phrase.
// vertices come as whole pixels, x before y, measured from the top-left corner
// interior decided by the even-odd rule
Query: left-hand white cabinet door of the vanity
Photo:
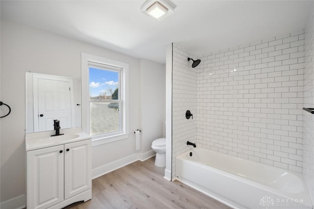
[[[48,208],[64,200],[63,147],[58,145],[27,152],[28,209]]]

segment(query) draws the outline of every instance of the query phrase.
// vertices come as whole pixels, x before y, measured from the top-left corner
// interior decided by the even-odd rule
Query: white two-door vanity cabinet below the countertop
[[[34,149],[27,156],[27,209],[91,199],[91,139]]]

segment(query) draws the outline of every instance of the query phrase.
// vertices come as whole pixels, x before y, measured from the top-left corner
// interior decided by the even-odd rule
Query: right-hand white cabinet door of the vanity
[[[92,187],[91,140],[64,144],[64,199]]]

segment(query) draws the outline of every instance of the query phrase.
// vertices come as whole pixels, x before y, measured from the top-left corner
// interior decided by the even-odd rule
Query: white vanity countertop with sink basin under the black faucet
[[[85,132],[82,132],[80,128],[60,130],[60,134],[64,135],[51,137],[53,134],[53,131],[26,134],[26,151],[91,139],[91,137]]]

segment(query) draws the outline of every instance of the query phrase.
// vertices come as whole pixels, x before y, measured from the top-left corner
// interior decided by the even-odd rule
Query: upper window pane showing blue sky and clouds
[[[89,67],[89,98],[119,99],[119,72]]]

